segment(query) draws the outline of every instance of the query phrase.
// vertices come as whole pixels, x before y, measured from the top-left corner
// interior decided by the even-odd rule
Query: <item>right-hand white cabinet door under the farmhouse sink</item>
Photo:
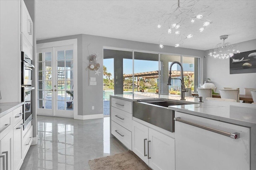
[[[175,170],[175,141],[149,128],[149,166],[154,170]]]

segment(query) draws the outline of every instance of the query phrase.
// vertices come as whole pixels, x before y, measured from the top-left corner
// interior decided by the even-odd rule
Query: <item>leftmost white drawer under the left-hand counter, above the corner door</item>
[[[12,111],[0,118],[0,139],[12,129]]]

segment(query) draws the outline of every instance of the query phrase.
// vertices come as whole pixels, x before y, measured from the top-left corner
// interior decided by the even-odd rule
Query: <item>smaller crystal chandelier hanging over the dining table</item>
[[[223,44],[219,43],[216,45],[216,48],[211,49],[208,55],[213,56],[214,58],[219,59],[228,59],[236,53],[240,53],[237,45],[232,45],[230,43],[225,43],[225,39],[228,38],[228,35],[220,36],[220,39],[223,40]]]

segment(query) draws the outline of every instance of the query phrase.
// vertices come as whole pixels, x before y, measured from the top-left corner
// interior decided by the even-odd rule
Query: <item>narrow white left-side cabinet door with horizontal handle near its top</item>
[[[23,119],[13,128],[13,167],[20,169],[22,164],[22,130]]]

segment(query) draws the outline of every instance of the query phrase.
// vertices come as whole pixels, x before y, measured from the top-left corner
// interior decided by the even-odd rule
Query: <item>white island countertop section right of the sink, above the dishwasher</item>
[[[204,101],[200,104],[168,106],[168,108],[237,125],[256,126],[256,104]]]

